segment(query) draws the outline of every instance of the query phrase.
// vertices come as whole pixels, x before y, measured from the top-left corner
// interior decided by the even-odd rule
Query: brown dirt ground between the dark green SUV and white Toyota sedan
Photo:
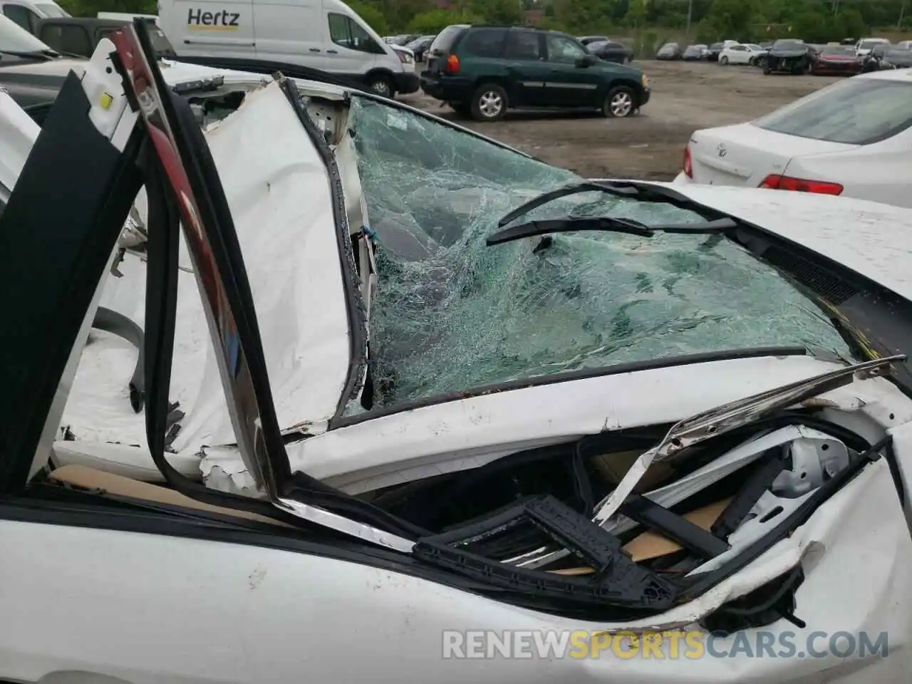
[[[759,68],[705,62],[642,61],[635,66],[648,75],[652,98],[630,119],[511,111],[501,121],[476,123],[423,93],[402,100],[589,178],[670,181],[694,130],[754,119],[834,80],[763,76]]]

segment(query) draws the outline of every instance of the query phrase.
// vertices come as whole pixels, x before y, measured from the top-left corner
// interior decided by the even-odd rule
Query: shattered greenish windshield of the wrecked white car
[[[582,179],[373,99],[352,98],[348,128],[378,242],[372,409],[731,348],[797,344],[851,356],[810,299],[720,235],[562,233],[489,247],[505,213]],[[567,215],[703,221],[597,192],[520,221]]]

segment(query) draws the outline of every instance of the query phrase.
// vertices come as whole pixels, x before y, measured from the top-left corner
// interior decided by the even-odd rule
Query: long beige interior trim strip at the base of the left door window
[[[205,511],[207,513],[221,513],[231,515],[235,518],[244,518],[245,520],[254,520],[259,523],[269,523],[279,527],[293,527],[288,523],[283,523],[273,518],[267,518],[258,513],[248,511],[238,511],[233,508],[224,508],[223,506],[213,506],[211,503],[198,502],[189,496],[184,496],[181,492],[175,492],[167,487],[161,487],[158,484],[150,482],[140,482],[132,480],[123,475],[115,475],[111,472],[98,471],[85,465],[76,463],[65,465],[55,469],[50,473],[48,478],[52,482],[61,484],[71,484],[74,487],[84,489],[98,489],[102,492],[123,496],[129,499],[138,499],[152,503],[166,503],[172,506],[182,506],[194,511]]]

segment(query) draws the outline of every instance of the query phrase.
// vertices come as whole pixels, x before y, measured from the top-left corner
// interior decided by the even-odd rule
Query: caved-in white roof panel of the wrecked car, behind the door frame
[[[349,348],[326,168],[277,85],[250,94],[207,141],[244,253],[279,424],[326,420],[347,377]],[[190,266],[182,240],[180,263]],[[101,304],[143,326],[145,264],[127,254],[119,269],[123,277],[108,279]],[[186,412],[172,446],[195,453],[234,437],[193,277],[178,275],[171,400]],[[145,448],[143,416],[125,394],[136,349],[93,337],[62,424],[79,440]]]

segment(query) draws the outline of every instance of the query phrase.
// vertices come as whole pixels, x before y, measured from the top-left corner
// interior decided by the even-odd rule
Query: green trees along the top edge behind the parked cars
[[[687,34],[694,41],[784,36],[821,42],[912,29],[912,0],[347,0],[380,35],[433,34],[450,24],[523,24],[571,34]],[[75,16],[155,14],[157,0],[60,0]],[[442,5],[442,6],[441,6]],[[532,13],[530,16],[528,13]],[[650,41],[652,42],[652,41]]]

